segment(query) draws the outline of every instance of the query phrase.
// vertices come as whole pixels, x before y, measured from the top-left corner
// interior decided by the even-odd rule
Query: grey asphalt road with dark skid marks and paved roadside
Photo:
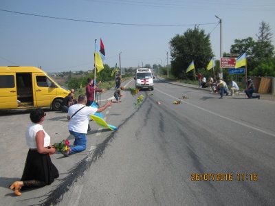
[[[52,155],[58,180],[19,197],[8,185],[23,172],[29,113],[1,115],[0,205],[275,205],[274,102],[219,100],[157,79],[139,108],[123,94],[103,113],[118,130],[91,123],[87,151]],[[52,141],[73,139],[65,114],[47,112],[43,126]]]

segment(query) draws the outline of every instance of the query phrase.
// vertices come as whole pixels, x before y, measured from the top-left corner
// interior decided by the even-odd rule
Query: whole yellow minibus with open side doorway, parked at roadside
[[[36,67],[0,67],[0,109],[50,107],[61,110],[69,90]]]

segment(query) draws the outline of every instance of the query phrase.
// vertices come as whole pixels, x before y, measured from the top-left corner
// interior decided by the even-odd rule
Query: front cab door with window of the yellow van
[[[34,106],[50,107],[57,93],[54,82],[47,76],[35,73],[32,82],[34,84]]]

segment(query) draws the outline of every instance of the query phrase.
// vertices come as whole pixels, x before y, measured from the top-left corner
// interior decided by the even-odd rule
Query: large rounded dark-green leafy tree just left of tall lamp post
[[[193,72],[186,73],[186,69],[194,60],[195,69],[206,68],[208,60],[214,56],[210,43],[210,35],[195,26],[188,29],[184,35],[177,34],[170,40],[171,73],[178,78],[192,79]]]

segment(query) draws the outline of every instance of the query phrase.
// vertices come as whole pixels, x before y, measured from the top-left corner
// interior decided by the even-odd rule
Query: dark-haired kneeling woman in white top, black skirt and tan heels
[[[21,181],[14,182],[11,190],[15,190],[16,195],[21,195],[21,187],[43,187],[50,185],[59,173],[56,166],[51,161],[49,154],[56,152],[50,144],[50,136],[43,130],[42,122],[46,113],[43,109],[36,108],[30,113],[32,123],[29,124],[25,137],[27,146],[30,148]]]

